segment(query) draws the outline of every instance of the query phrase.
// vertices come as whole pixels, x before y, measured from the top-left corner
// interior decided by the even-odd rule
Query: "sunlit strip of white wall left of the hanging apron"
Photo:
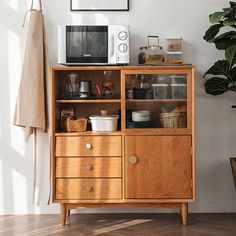
[[[12,125],[27,32],[22,23],[29,2],[0,0],[0,51],[5,55],[0,58],[0,214],[36,211],[31,204],[32,141],[26,144],[23,130]]]

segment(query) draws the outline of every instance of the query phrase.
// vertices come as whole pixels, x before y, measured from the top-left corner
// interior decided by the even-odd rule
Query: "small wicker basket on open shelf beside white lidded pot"
[[[87,129],[87,119],[78,118],[73,119],[72,117],[67,117],[64,119],[64,127],[67,132],[84,132]]]

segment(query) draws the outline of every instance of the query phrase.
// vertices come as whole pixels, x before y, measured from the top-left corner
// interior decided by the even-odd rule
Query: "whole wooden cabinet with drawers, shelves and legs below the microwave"
[[[109,98],[97,91],[107,70]],[[90,80],[95,96],[68,99],[70,73]],[[193,66],[52,68],[52,202],[61,204],[63,225],[70,209],[117,206],[177,208],[187,223],[196,195],[193,81]],[[185,91],[176,95],[173,87]],[[118,129],[93,132],[88,124],[85,132],[65,132],[62,110],[85,118],[107,110],[119,115]],[[134,121],[141,110],[149,111],[147,122]]]

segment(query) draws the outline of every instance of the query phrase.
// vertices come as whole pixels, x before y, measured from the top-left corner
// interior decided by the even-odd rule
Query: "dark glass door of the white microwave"
[[[67,62],[108,63],[107,26],[70,26],[67,34]]]

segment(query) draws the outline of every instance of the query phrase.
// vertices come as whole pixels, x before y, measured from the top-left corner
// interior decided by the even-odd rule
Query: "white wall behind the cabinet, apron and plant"
[[[190,210],[235,212],[236,192],[229,157],[236,156],[236,111],[230,109],[236,102],[236,94],[212,97],[202,88],[203,73],[222,57],[221,52],[202,39],[208,27],[208,15],[226,7],[227,1],[130,0],[129,12],[95,13],[71,13],[69,2],[43,1],[52,65],[57,58],[58,24],[130,25],[133,63],[137,62],[138,47],[146,44],[147,35],[159,35],[162,44],[166,37],[183,37],[185,60],[196,65],[197,88],[197,202],[191,204]],[[34,206],[31,203],[32,140],[25,143],[23,130],[12,126],[25,47],[26,28],[22,28],[22,20],[29,5],[30,0],[0,0],[0,214],[59,210],[58,206],[46,204],[49,191],[47,136],[40,135],[40,204]],[[135,209],[128,211],[136,212]],[[150,209],[139,211],[149,212]]]

